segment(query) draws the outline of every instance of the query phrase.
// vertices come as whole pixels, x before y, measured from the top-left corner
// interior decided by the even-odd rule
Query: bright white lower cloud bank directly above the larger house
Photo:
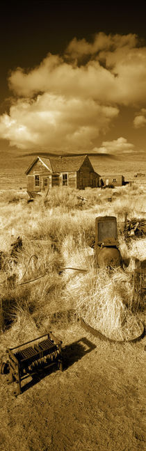
[[[0,118],[0,135],[18,148],[78,150],[92,147],[118,114],[114,106],[92,99],[68,99],[44,93],[36,100],[18,100]]]

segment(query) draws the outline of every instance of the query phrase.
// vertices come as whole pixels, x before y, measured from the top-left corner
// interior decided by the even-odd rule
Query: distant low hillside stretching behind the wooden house
[[[95,171],[100,175],[107,173],[115,173],[124,175],[126,180],[133,177],[134,173],[146,171],[146,155],[145,153],[124,154],[123,156],[96,154],[82,152],[77,155],[88,155]],[[60,155],[59,152],[24,152],[16,148],[8,148],[1,150],[0,164],[0,189],[1,187],[19,187],[26,185],[26,168],[29,167],[33,159],[37,155],[49,157],[51,155]],[[63,155],[70,156],[70,153]],[[76,154],[72,154],[76,155]]]

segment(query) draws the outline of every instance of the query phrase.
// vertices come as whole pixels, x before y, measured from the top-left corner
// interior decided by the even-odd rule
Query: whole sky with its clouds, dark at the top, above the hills
[[[145,17],[145,0],[2,4],[0,152],[143,157]]]

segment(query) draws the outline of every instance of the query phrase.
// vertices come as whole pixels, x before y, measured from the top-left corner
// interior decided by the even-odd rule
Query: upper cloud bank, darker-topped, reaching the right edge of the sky
[[[86,54],[88,61],[78,65],[78,56]],[[17,68],[9,77],[9,86],[17,95],[26,97],[48,92],[68,97],[93,97],[97,102],[112,104],[143,103],[146,100],[146,47],[140,47],[138,38],[132,34],[98,33],[92,44],[74,38],[63,57],[48,54],[32,70],[25,72]]]

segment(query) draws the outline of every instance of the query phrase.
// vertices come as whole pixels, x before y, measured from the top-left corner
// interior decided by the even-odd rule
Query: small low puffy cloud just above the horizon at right
[[[100,148],[94,148],[94,152],[97,153],[108,153],[108,154],[120,154],[123,153],[131,153],[134,150],[134,145],[132,143],[128,143],[126,138],[122,136],[117,139],[113,139],[113,141],[103,141],[102,146]]]

